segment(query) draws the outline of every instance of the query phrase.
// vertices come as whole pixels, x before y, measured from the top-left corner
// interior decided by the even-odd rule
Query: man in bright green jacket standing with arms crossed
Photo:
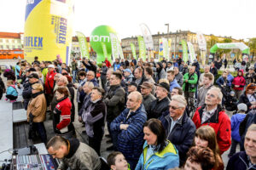
[[[187,72],[183,76],[183,92],[190,110],[195,108],[194,94],[196,90],[197,80],[198,77],[195,73],[195,66],[191,66],[189,68],[189,72]]]

